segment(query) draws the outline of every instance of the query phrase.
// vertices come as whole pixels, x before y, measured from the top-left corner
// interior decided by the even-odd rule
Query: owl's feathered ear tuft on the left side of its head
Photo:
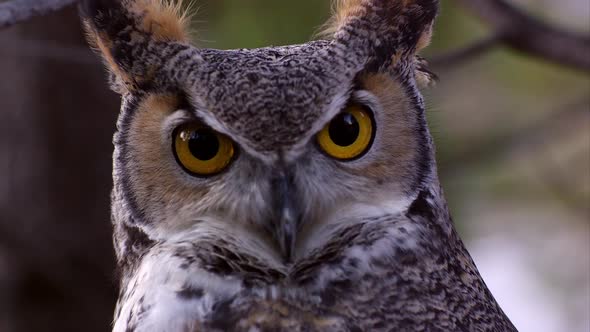
[[[114,74],[117,92],[149,78],[149,61],[136,56],[150,44],[189,41],[190,6],[183,9],[181,1],[83,0],[79,8],[88,42]]]

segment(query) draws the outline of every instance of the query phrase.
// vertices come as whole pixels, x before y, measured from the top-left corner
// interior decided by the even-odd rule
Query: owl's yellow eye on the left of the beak
[[[198,124],[180,126],[173,138],[176,160],[194,175],[215,175],[234,156],[234,144],[229,138]]]

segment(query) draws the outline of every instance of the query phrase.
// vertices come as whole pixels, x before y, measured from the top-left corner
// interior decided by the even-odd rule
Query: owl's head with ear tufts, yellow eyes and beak
[[[343,225],[407,209],[434,175],[419,83],[437,0],[341,0],[322,40],[193,46],[179,6],[81,5],[123,103],[118,254],[224,236],[305,256]]]

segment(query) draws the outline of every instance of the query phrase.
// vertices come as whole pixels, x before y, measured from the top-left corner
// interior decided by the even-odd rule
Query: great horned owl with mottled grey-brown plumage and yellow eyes
[[[437,0],[341,0],[322,40],[192,46],[87,0],[122,95],[114,331],[513,331],[457,236],[418,90]]]

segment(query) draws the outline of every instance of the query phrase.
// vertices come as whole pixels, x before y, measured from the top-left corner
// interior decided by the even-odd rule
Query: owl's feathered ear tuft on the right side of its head
[[[366,56],[367,70],[382,70],[419,62],[415,56],[430,43],[437,13],[438,0],[336,0],[319,35]]]

